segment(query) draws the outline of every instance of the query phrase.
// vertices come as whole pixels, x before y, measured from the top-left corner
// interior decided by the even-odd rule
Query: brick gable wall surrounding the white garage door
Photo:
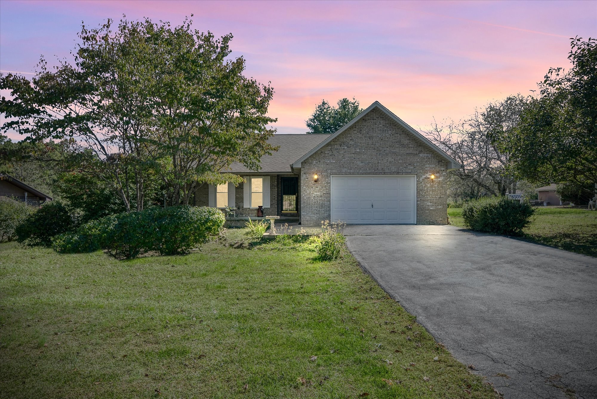
[[[447,223],[446,159],[377,108],[301,162],[303,225],[330,220],[333,174],[416,174],[417,224]]]

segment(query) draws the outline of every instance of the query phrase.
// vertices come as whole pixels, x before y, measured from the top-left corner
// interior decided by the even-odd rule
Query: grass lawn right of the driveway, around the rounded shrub
[[[464,227],[462,208],[448,209],[450,223]],[[524,240],[567,251],[597,256],[597,211],[582,208],[538,207]]]

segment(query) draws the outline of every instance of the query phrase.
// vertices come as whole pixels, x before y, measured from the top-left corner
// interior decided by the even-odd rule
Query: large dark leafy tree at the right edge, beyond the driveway
[[[538,83],[518,126],[491,138],[519,177],[597,190],[597,41],[571,39],[568,59]]]

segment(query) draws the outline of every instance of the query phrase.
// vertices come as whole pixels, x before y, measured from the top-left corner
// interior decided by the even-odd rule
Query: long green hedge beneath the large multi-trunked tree
[[[172,255],[205,243],[219,234],[225,221],[224,214],[216,208],[153,208],[92,220],[76,232],[54,237],[52,247],[61,253],[105,248],[121,259],[149,251]]]

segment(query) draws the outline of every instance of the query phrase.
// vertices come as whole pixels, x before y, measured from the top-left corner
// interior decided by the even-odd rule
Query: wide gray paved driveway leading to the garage
[[[506,398],[597,398],[597,258],[454,226],[346,226],[394,299]]]

